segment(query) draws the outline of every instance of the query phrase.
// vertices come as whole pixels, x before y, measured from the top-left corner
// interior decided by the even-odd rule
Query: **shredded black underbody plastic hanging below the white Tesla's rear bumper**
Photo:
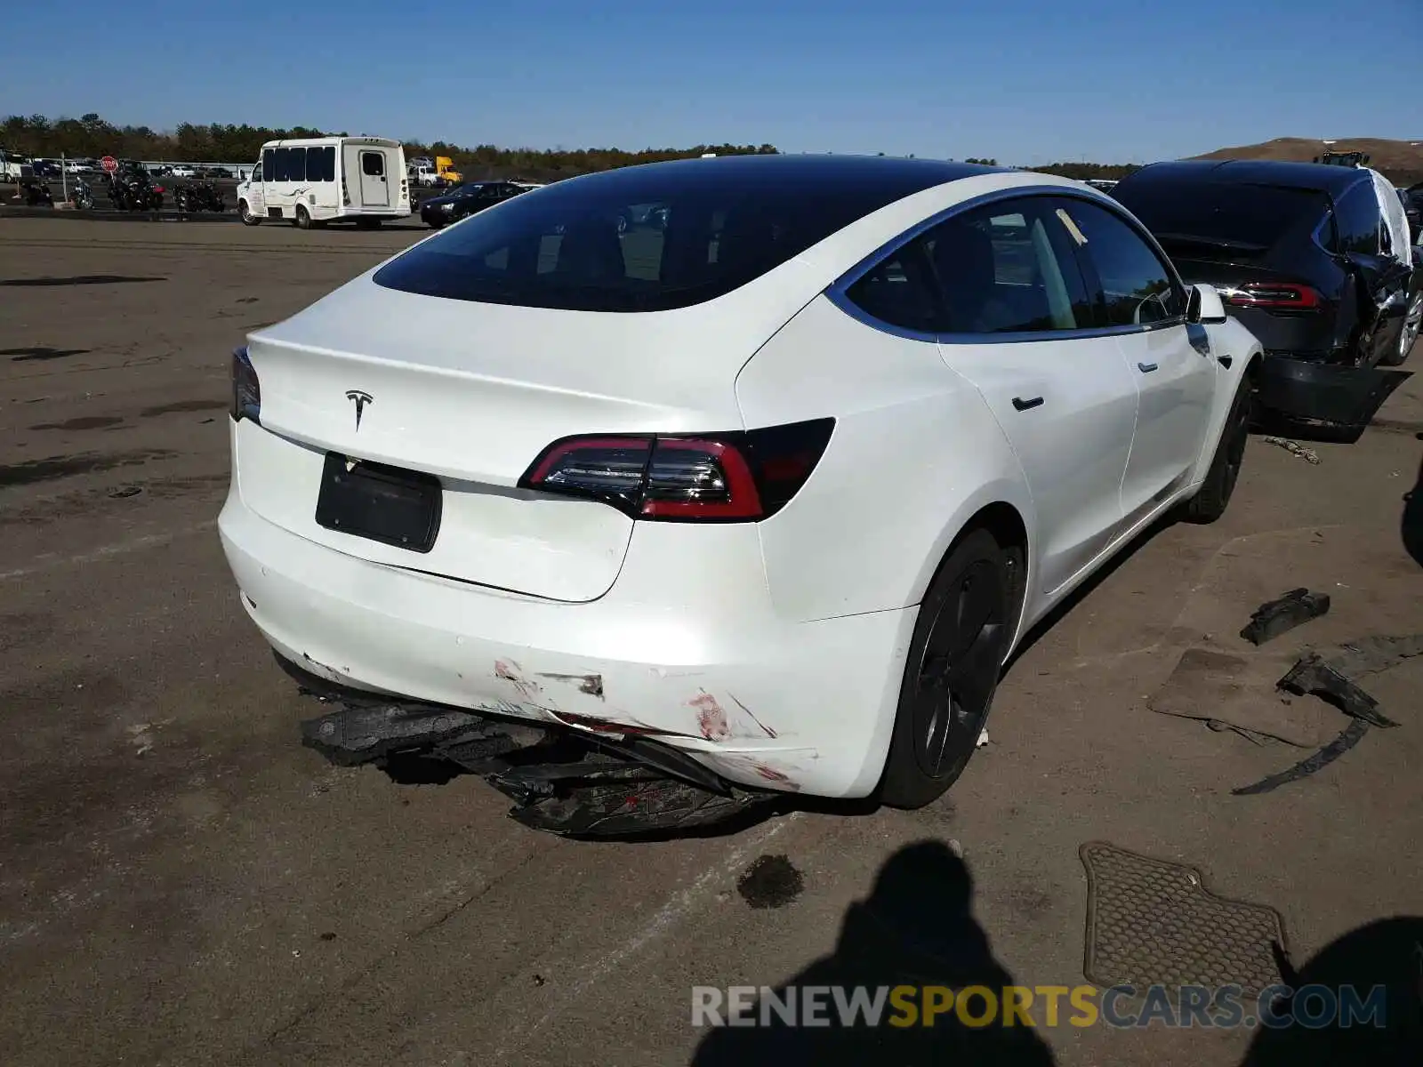
[[[515,801],[509,815],[532,829],[638,837],[706,827],[780,800],[733,787],[646,738],[605,740],[458,708],[305,691],[332,710],[302,723],[302,743],[332,763],[373,764],[393,775],[398,767],[406,781],[421,780],[411,775],[414,764],[478,774]],[[682,761],[684,775],[676,773]]]

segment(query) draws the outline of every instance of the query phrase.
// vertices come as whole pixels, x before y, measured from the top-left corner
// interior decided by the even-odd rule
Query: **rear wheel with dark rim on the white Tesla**
[[[939,565],[909,643],[881,802],[922,808],[963,773],[1022,613],[1022,549],[982,528]]]

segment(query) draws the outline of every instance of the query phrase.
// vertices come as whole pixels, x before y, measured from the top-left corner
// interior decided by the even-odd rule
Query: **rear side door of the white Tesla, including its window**
[[[924,236],[945,304],[945,361],[975,384],[1017,452],[1052,595],[1121,528],[1137,383],[1093,329],[1089,289],[1049,196],[958,213]]]

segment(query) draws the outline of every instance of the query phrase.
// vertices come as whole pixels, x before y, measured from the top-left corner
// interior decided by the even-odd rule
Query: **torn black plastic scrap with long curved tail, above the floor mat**
[[[1340,644],[1329,656],[1312,652],[1299,659],[1276,684],[1278,689],[1303,696],[1306,693],[1333,704],[1346,716],[1349,726],[1313,755],[1294,767],[1272,774],[1252,785],[1231,790],[1237,797],[1257,797],[1278,790],[1299,778],[1315,774],[1348,753],[1369,733],[1369,727],[1399,726],[1379,710],[1379,701],[1363,691],[1353,677],[1377,674],[1396,667],[1403,660],[1423,656],[1423,633],[1402,637],[1363,637]]]

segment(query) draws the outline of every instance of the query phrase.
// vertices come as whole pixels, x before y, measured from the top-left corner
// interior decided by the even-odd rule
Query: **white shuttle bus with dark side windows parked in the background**
[[[249,226],[286,219],[302,229],[403,219],[410,215],[406,149],[383,137],[268,141],[252,176],[238,185],[238,215]]]

